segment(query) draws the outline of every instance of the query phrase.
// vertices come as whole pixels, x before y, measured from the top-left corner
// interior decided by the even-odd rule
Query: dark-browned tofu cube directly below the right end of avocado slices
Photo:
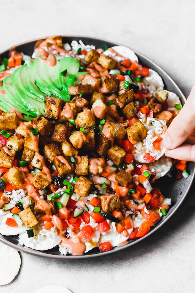
[[[45,100],[45,117],[58,119],[62,110],[63,100],[59,98],[47,97]]]

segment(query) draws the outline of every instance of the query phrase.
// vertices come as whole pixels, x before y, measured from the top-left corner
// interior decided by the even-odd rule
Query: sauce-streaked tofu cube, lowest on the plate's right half
[[[113,212],[120,208],[120,197],[118,194],[101,195],[101,207],[104,212]]]

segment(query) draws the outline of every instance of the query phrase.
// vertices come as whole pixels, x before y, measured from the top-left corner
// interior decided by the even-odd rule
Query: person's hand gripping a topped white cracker
[[[195,161],[195,85],[187,102],[165,133],[163,145],[167,149],[165,156]]]

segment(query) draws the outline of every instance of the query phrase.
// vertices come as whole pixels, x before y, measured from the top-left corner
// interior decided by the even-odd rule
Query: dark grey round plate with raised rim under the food
[[[43,38],[45,39],[45,38]],[[37,42],[37,40],[41,39],[36,39],[28,42],[24,42],[22,44],[16,45],[15,49],[18,52],[23,52],[24,54],[27,54],[29,56],[32,55],[32,52],[34,50],[34,45]],[[91,37],[84,37],[84,36],[63,36],[63,43],[68,42],[69,44],[71,43],[72,40],[82,40],[84,44],[89,44],[89,45],[94,45],[96,48],[103,48],[105,45],[107,47],[112,47],[115,45],[120,45],[115,42],[109,42],[106,40],[101,40],[101,39],[96,39],[96,38],[91,38]],[[180,97],[182,105],[184,105],[186,99],[178,86],[175,84],[175,82],[168,76],[163,69],[158,67],[154,62],[149,60],[147,57],[143,56],[142,54],[134,51],[139,59],[139,62],[144,66],[144,67],[149,67],[160,74],[160,76],[163,79],[165,89],[172,91],[177,94],[177,96]],[[0,53],[0,57],[8,57],[9,54],[9,49]],[[8,246],[11,246],[19,251],[25,252],[25,253],[30,253],[34,255],[39,255],[42,257],[49,257],[49,258],[58,258],[58,259],[82,259],[82,258],[93,258],[97,256],[102,256],[102,255],[108,255],[110,253],[114,253],[117,251],[120,251],[124,248],[128,248],[135,243],[138,243],[139,241],[144,241],[146,237],[151,235],[154,231],[159,229],[171,216],[173,213],[176,212],[178,207],[182,204],[184,198],[187,196],[189,193],[190,187],[192,185],[193,179],[194,179],[194,163],[189,164],[189,169],[191,171],[191,175],[187,178],[184,179],[182,178],[179,181],[176,181],[174,178],[168,178],[167,176],[160,178],[157,180],[157,186],[160,188],[161,192],[165,197],[171,198],[172,199],[172,204],[170,209],[168,210],[168,213],[165,217],[163,217],[155,226],[153,226],[150,230],[150,232],[140,238],[140,239],[132,239],[127,243],[125,246],[122,247],[114,247],[113,250],[100,253],[98,248],[94,248],[93,250],[89,251],[88,253],[84,255],[61,255],[59,252],[58,248],[53,248],[47,251],[37,251],[33,250],[31,248],[23,247],[18,243],[18,236],[3,236],[0,234],[0,241],[2,243],[7,244]]]

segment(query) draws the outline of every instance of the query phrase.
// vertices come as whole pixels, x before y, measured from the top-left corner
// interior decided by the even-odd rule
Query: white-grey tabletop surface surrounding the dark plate
[[[0,3],[0,51],[46,35],[96,36],[128,45],[152,59],[185,96],[195,81],[193,0]],[[21,253],[19,275],[1,286],[0,292],[34,293],[47,284],[68,287],[73,293],[193,292],[194,207],[191,196],[146,242],[110,257],[57,261]]]

